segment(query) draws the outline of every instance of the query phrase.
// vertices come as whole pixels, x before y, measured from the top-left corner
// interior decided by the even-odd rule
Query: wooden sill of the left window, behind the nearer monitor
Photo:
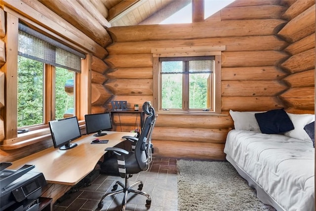
[[[79,121],[80,130],[85,128],[84,121]],[[43,129],[29,131],[27,133],[19,134],[17,138],[3,140],[0,145],[1,150],[12,150],[22,148],[40,141],[48,140],[51,138],[49,127]]]

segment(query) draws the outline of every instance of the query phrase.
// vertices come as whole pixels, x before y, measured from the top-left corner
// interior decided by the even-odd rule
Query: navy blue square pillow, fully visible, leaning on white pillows
[[[255,113],[261,133],[279,134],[294,129],[294,125],[284,109]]]

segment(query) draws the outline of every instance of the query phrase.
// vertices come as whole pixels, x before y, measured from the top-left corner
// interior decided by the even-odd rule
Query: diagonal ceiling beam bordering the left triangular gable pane
[[[153,15],[151,15],[149,18],[143,20],[138,25],[151,25],[151,24],[158,24],[165,20],[166,18],[170,17],[175,12],[179,11],[186,5],[188,5],[191,2],[191,0],[174,0],[170,1],[168,4],[166,4],[162,9],[155,12]],[[140,9],[140,8],[138,8]],[[140,12],[142,14],[142,12]],[[204,13],[203,13],[204,14]]]

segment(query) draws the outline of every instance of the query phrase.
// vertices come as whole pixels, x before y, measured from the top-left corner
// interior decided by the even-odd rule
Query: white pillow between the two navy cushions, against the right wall
[[[311,122],[315,121],[314,114],[294,114],[294,113],[287,113],[290,117],[293,125],[294,130],[290,130],[285,132],[284,135],[290,138],[305,140],[305,141],[312,141],[310,136],[304,130],[305,125],[310,124]]]

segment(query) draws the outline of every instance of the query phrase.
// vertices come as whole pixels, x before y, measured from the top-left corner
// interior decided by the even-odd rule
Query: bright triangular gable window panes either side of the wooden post
[[[204,19],[221,10],[235,0],[204,0]],[[192,3],[180,9],[160,24],[192,23]]]

